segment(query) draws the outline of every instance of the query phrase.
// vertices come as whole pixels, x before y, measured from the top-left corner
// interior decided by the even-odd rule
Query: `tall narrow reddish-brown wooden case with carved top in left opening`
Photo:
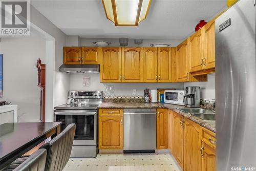
[[[37,86],[41,89],[40,98],[40,120],[46,121],[46,65],[41,63],[40,58],[36,62],[38,72]]]

